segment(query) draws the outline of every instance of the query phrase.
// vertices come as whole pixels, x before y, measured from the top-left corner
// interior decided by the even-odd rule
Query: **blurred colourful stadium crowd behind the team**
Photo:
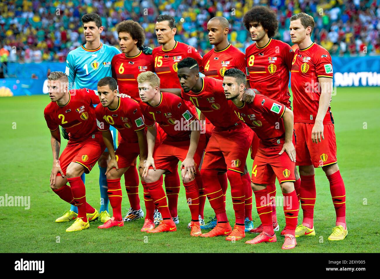
[[[322,3],[323,2],[323,3]],[[316,43],[332,55],[380,54],[380,6],[376,0],[68,0],[2,1],[0,3],[1,62],[65,61],[70,50],[84,42],[81,15],[98,13],[105,30],[101,41],[118,46],[116,25],[125,19],[139,22],[146,32],[145,46],[157,46],[155,19],[171,14],[177,21],[176,39],[196,47],[203,55],[211,49],[207,21],[224,16],[230,21],[230,42],[243,52],[252,44],[242,16],[253,5],[277,11],[275,39],[291,44],[290,16],[304,11],[315,19]]]

